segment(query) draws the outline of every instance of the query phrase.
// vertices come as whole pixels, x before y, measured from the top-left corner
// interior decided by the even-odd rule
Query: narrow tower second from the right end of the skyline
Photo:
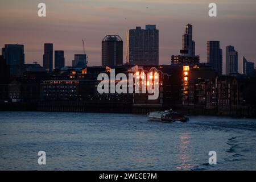
[[[233,46],[226,46],[226,75],[238,73],[238,53]]]

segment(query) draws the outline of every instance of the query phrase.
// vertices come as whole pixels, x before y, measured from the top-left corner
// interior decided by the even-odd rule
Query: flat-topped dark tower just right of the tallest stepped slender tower
[[[222,75],[222,49],[220,49],[220,41],[207,42],[207,63]]]

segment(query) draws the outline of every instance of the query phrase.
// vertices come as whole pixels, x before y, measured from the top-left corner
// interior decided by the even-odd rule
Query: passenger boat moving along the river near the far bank
[[[177,113],[176,111],[170,109],[165,111],[155,111],[147,114],[147,118],[150,121],[160,121],[160,122],[187,122],[189,118],[184,114]]]

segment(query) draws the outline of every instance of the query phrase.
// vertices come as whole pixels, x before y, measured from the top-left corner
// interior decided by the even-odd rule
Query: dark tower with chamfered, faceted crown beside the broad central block
[[[102,66],[123,64],[123,40],[118,35],[106,35],[101,45]]]

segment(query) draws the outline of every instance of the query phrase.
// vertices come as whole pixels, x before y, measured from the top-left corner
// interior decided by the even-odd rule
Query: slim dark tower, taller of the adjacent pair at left
[[[43,67],[47,72],[52,72],[53,44],[44,44]]]

